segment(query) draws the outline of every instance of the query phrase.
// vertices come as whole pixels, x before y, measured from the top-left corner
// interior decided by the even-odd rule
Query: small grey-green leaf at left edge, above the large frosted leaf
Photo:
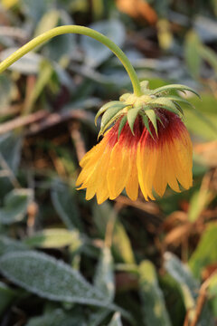
[[[12,190],[5,197],[4,206],[0,208],[0,223],[10,225],[22,221],[32,200],[32,189]]]

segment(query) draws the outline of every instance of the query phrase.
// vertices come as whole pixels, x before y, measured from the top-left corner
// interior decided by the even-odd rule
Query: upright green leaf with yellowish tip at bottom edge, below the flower
[[[171,326],[164,295],[157,281],[155,266],[147,260],[143,261],[139,265],[138,273],[144,323],[146,326]]]

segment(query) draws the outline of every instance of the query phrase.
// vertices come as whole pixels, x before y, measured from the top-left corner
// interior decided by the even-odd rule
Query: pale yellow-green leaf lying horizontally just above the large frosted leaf
[[[24,239],[24,244],[38,248],[61,248],[70,246],[72,252],[78,251],[82,245],[78,231],[64,229],[46,229]]]

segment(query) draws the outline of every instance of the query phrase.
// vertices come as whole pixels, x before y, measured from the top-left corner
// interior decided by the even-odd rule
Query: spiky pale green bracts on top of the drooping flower
[[[99,109],[95,118],[95,123],[97,123],[99,116],[102,115],[99,136],[103,135],[111,124],[120,118],[118,137],[127,122],[134,134],[134,123],[137,116],[140,115],[146,129],[153,137],[149,129],[149,122],[153,124],[157,135],[157,120],[160,120],[156,114],[157,110],[169,110],[179,116],[183,116],[184,112],[179,102],[192,105],[189,101],[182,98],[178,91],[191,91],[200,97],[196,91],[185,85],[172,84],[159,87],[156,90],[150,90],[148,82],[144,81],[140,83],[140,86],[143,93],[141,96],[126,93],[121,95],[119,101],[110,101]]]

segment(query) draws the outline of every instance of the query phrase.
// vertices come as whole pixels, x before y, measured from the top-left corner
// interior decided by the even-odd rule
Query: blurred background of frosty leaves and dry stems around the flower
[[[150,88],[182,83],[202,97],[184,106],[193,187],[97,206],[75,181],[97,110],[132,91],[121,63],[67,34],[0,75],[0,325],[217,325],[216,0],[0,4],[1,61],[82,24],[117,43]]]

